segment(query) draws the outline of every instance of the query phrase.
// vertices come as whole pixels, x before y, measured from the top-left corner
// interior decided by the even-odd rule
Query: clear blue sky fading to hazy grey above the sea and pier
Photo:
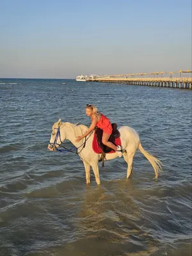
[[[0,77],[191,70],[191,0],[0,0]]]

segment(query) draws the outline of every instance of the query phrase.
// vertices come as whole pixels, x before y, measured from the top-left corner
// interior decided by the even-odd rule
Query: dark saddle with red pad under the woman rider
[[[109,141],[111,141],[116,146],[121,145],[121,143],[120,143],[120,132],[117,129],[117,124],[114,123],[114,124],[111,124],[111,125],[112,125],[112,128],[113,128],[113,131],[112,131],[111,136],[109,137]],[[104,153],[109,153],[111,151],[114,152],[114,150],[112,148],[109,148],[108,146],[106,146],[102,143],[102,133],[103,133],[102,129],[96,127],[95,135],[96,135],[96,138],[97,138],[97,143],[98,143],[99,147],[102,149],[102,152],[104,152]],[[119,138],[119,140],[116,140],[118,138]]]

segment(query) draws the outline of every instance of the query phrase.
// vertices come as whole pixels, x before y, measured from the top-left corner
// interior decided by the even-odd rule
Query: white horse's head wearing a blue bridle
[[[58,122],[52,125],[51,139],[48,145],[48,149],[51,151],[55,151],[56,148],[58,148],[61,145],[61,143],[65,140],[65,138],[63,138],[63,134],[61,138],[60,126],[61,126],[61,118],[58,120]]]

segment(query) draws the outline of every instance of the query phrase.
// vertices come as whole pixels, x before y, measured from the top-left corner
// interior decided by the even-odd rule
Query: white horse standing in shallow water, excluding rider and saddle
[[[90,183],[90,167],[92,166],[93,173],[95,175],[95,180],[97,184],[100,184],[100,177],[99,177],[99,167],[98,162],[100,159],[100,154],[97,154],[92,149],[92,141],[93,141],[93,132],[92,134],[88,135],[87,138],[83,138],[83,140],[76,142],[76,137],[81,136],[88,130],[88,127],[85,125],[77,125],[77,124],[70,124],[68,122],[62,123],[61,119],[58,120],[52,126],[52,133],[51,133],[51,140],[49,141],[48,148],[49,150],[56,150],[61,143],[65,140],[69,140],[72,144],[78,148],[77,153],[79,157],[81,157],[85,175],[86,175],[86,184]],[[148,154],[147,151],[143,149],[140,143],[140,138],[138,133],[128,126],[122,126],[118,130],[120,132],[120,139],[122,141],[122,154],[124,156],[125,161],[128,164],[127,167],[127,179],[132,173],[132,160],[136,150],[140,150],[140,152],[148,159],[152,167],[154,168],[155,178],[157,180],[158,172],[162,170],[161,168],[161,161],[159,161],[156,157]],[[86,141],[86,142],[85,142]],[[118,157],[117,153],[109,153],[106,154],[105,160],[111,160]]]

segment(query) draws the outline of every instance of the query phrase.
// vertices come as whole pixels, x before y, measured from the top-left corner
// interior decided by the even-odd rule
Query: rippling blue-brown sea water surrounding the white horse
[[[191,91],[0,79],[0,92],[0,255],[191,255]],[[47,150],[58,118],[90,124],[87,103],[138,131],[157,182],[140,152],[131,179],[114,159],[86,186],[78,156]]]

